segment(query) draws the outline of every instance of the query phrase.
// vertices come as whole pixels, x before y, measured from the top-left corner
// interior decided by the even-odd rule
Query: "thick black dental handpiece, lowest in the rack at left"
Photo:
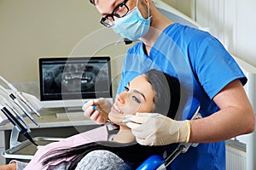
[[[15,116],[13,116],[13,114],[6,107],[0,104],[0,110],[3,112],[5,116],[7,116],[9,121],[13,123],[13,125],[17,128],[17,130],[19,130],[20,133],[26,137],[26,139],[29,139],[29,141],[31,141],[32,144],[35,144],[36,146],[38,146],[38,144],[36,144],[33,141],[32,137],[27,133],[27,129],[22,126],[22,124],[15,118]]]

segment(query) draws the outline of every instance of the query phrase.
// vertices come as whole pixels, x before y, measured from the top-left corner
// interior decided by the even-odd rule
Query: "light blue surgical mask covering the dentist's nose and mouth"
[[[150,26],[149,6],[148,19],[144,19],[137,7],[133,8],[124,17],[114,21],[113,31],[131,41],[143,37]]]

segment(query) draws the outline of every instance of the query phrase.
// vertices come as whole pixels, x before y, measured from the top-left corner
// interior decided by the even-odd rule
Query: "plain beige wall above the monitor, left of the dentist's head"
[[[125,54],[124,46],[89,50],[87,45],[103,38],[108,45],[119,38],[109,31],[97,37],[100,19],[89,0],[0,0],[0,75],[10,82],[37,82],[39,57],[68,56],[88,36],[94,38],[79,54]]]

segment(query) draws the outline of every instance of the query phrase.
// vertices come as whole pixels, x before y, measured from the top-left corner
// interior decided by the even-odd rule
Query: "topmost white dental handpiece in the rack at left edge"
[[[31,109],[31,111],[33,111],[38,117],[42,118],[40,113],[38,113],[38,111],[26,100],[26,98],[20,93],[20,91],[17,88],[15,88],[15,86],[13,86],[10,82],[8,82],[6,79],[4,79],[1,76],[0,76],[0,79],[3,80],[3,82],[5,82],[9,86],[9,88],[15,92],[15,94],[20,98],[20,100],[25,105],[27,105]]]

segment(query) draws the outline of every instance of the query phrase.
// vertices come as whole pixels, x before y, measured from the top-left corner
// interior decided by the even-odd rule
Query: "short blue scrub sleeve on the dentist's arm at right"
[[[210,99],[233,80],[240,79],[242,85],[247,82],[235,59],[215,37],[210,35],[201,43],[191,64]]]

